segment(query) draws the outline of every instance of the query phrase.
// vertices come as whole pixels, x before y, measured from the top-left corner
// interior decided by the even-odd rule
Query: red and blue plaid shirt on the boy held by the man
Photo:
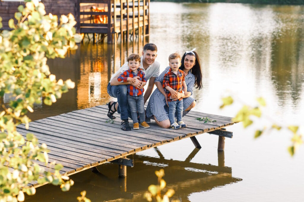
[[[124,71],[121,75],[119,75],[119,77],[117,78],[117,81],[127,82],[128,77],[133,78],[133,77],[139,76],[140,81],[147,83],[147,79],[145,78],[145,73],[143,73],[143,71],[141,71],[140,68],[138,68],[137,70],[138,70],[137,75],[130,69]],[[139,96],[139,95],[143,94],[143,89],[136,88],[131,84],[128,84],[127,88],[128,88],[128,94],[131,96]]]

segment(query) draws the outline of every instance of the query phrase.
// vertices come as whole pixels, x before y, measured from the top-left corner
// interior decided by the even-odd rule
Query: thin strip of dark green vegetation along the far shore
[[[201,2],[201,3],[246,3],[246,4],[276,4],[304,5],[304,0],[151,0],[151,2]]]

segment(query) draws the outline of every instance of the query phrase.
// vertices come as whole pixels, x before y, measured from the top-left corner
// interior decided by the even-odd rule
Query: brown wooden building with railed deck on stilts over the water
[[[119,35],[121,42],[129,39],[141,40],[149,35],[150,0],[41,0],[47,13],[53,15],[73,14],[76,30],[83,35],[93,34],[93,42],[107,37],[109,44],[116,43]],[[3,29],[10,29],[8,21],[23,1],[2,1],[0,16]],[[89,40],[91,38],[89,37]]]

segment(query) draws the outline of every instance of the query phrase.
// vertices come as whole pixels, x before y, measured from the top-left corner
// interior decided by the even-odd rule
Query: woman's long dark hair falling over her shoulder
[[[190,69],[190,72],[194,75],[195,77],[195,83],[196,85],[195,88],[202,89],[202,71],[201,71],[201,65],[199,63],[199,55],[195,51],[193,51],[195,54],[195,65]],[[184,66],[184,61],[185,61],[185,56],[186,55],[193,55],[192,53],[185,53],[183,57],[181,58],[181,67],[179,68],[180,70],[184,71],[185,66]]]

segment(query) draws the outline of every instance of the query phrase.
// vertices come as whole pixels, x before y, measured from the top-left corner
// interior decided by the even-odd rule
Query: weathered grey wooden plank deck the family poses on
[[[165,129],[151,120],[150,128],[122,131],[119,114],[115,114],[118,116],[111,124],[105,122],[109,119],[107,112],[106,105],[81,109],[33,121],[29,130],[21,124],[17,126],[17,131],[24,137],[27,133],[35,134],[40,143],[47,144],[49,161],[62,164],[64,168],[60,172],[71,175],[139,151],[234,124],[231,117],[190,111],[183,118],[188,125],[186,128]],[[195,119],[206,116],[216,122],[203,124]],[[40,166],[44,167],[44,164]],[[45,169],[53,171],[52,168]],[[36,182],[31,184],[40,186]]]

